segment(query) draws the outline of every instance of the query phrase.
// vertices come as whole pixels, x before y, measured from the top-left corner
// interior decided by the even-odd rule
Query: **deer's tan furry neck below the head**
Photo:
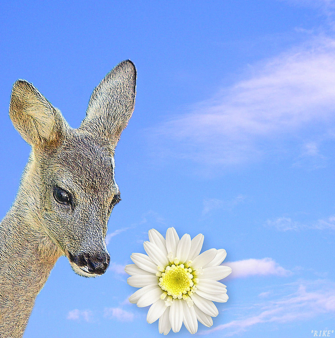
[[[42,230],[38,193],[29,191],[39,186],[38,177],[28,162],[16,200],[0,223],[0,337],[22,336],[35,298],[62,255]]]

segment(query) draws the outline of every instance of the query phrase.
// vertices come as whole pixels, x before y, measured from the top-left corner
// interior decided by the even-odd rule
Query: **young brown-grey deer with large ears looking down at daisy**
[[[135,96],[136,68],[126,60],[94,89],[75,129],[31,83],[14,83],[9,116],[31,153],[0,223],[0,337],[22,337],[59,257],[84,277],[109,266],[107,221],[120,201],[115,147]]]

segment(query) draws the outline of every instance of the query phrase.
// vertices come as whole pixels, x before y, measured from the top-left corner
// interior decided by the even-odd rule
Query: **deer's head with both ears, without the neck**
[[[120,200],[114,150],[134,111],[135,88],[135,66],[123,61],[94,89],[78,129],[31,83],[18,80],[11,93],[10,118],[32,147],[21,208],[82,276],[101,275],[109,265],[107,221]]]

